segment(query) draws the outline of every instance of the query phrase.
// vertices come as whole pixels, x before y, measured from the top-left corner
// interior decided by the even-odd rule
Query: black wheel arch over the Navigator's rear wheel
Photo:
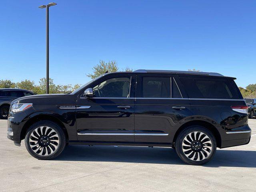
[[[176,131],[176,133],[174,135],[172,143],[175,144],[175,141],[176,141],[176,138],[178,137],[178,134],[182,130],[187,128],[188,126],[202,126],[206,129],[208,129],[214,135],[214,137],[216,139],[216,142],[217,142],[217,147],[218,148],[221,147],[221,136],[220,136],[220,133],[219,133],[218,129],[214,125],[212,125],[211,123],[203,121],[203,120],[193,120],[193,121],[187,122],[187,123],[183,124],[182,126],[180,126],[180,128],[178,128],[178,130]]]

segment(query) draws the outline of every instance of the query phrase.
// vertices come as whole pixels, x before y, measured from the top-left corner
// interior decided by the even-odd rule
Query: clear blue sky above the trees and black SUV
[[[0,79],[45,77],[46,0],[1,3]],[[256,1],[54,0],[50,77],[84,84],[99,60],[119,68],[219,72],[255,84]]]

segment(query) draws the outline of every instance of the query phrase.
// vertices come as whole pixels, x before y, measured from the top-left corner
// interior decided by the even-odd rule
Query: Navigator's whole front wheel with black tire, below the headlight
[[[54,122],[47,120],[36,122],[26,133],[25,146],[34,158],[50,160],[56,158],[64,150],[66,135]]]

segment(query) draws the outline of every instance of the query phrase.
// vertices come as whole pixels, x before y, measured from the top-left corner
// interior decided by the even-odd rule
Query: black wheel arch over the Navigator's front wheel
[[[48,121],[52,121],[56,124],[58,124],[62,130],[64,131],[65,135],[66,135],[66,142],[68,142],[68,132],[66,130],[66,127],[64,126],[64,124],[61,122],[61,120],[59,120],[58,118],[50,115],[50,114],[39,114],[36,116],[33,116],[32,118],[30,118],[23,126],[21,133],[20,133],[20,140],[23,140],[26,136],[26,132],[28,131],[28,128],[30,128],[30,126],[36,122],[42,121],[42,120],[48,120]]]

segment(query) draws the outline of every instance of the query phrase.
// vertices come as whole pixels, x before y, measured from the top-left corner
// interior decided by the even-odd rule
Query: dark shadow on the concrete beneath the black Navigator
[[[206,167],[256,168],[256,151],[217,150]],[[152,164],[184,164],[172,148],[131,146],[82,146],[71,145],[54,160],[94,162],[134,162]]]

